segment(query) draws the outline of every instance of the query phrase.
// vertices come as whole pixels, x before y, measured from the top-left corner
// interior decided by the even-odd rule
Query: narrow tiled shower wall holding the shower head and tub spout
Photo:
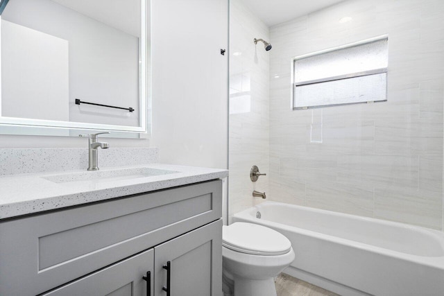
[[[268,27],[240,0],[230,1],[230,215],[260,202],[253,190],[268,195],[270,52],[255,38],[268,41]],[[255,183],[253,165],[267,173]]]

